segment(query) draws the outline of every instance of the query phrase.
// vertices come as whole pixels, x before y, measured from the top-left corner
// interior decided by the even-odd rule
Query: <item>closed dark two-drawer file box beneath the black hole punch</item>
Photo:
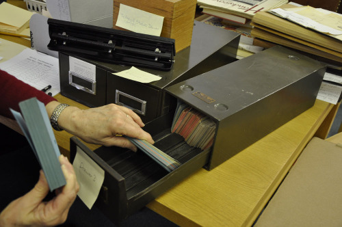
[[[151,83],[138,83],[112,75],[112,72],[127,70],[131,66],[60,53],[61,94],[90,107],[105,103],[124,105],[136,111],[144,122],[149,122],[169,111],[170,97],[164,91],[166,87],[234,62],[238,45],[239,35],[235,32],[195,21],[191,46],[176,53],[174,65],[169,71],[140,68],[161,77],[159,81]],[[96,94],[80,90],[78,85],[70,85],[69,57],[76,57],[96,66]],[[77,75],[75,78],[77,79]]]

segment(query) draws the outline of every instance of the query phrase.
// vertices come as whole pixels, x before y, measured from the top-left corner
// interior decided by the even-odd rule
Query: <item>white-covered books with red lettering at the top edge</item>
[[[287,2],[287,0],[198,0],[197,4],[203,9],[204,14],[244,25],[257,12],[278,8]]]

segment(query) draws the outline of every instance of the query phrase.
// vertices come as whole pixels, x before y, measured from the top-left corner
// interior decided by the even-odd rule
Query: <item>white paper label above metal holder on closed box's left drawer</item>
[[[96,81],[96,66],[75,57],[69,57],[69,70],[77,75]]]

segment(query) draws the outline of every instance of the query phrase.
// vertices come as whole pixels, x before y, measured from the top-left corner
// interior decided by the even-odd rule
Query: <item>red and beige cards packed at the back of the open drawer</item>
[[[216,124],[204,114],[179,102],[174,114],[171,131],[181,135],[189,146],[206,150],[213,144]]]

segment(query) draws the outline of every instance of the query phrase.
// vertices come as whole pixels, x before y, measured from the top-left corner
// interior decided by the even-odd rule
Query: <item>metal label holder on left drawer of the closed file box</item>
[[[96,95],[96,81],[69,71],[69,84],[78,90]]]

